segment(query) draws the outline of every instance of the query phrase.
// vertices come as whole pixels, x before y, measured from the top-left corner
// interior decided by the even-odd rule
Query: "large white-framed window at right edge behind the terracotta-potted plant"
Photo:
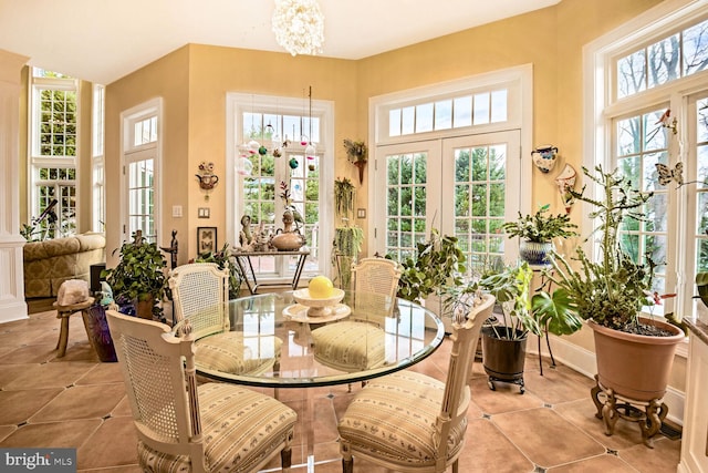
[[[617,167],[654,193],[645,220],[624,223],[622,244],[659,263],[656,291],[677,294],[654,313],[693,313],[695,275],[708,270],[708,7],[669,3],[587,47],[596,113],[586,164]]]

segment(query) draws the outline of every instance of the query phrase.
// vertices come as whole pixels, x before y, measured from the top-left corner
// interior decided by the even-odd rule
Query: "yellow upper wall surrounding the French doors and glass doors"
[[[564,0],[360,61],[189,44],[107,86],[106,172],[117,176],[119,171],[118,114],[162,96],[165,189],[164,234],[158,243],[168,246],[169,230],[177,229],[181,264],[196,253],[198,226],[216,226],[220,243],[226,235],[226,185],[218,185],[205,203],[194,174],[201,161],[211,161],[223,179],[227,92],[302,97],[303,90],[312,85],[315,100],[335,104],[335,176],[354,178],[356,168],[339,144],[345,137],[367,137],[369,97],[529,63],[534,71],[533,143],[556,145],[561,161],[577,168],[582,161],[582,47],[658,2]],[[555,210],[560,198],[553,177],[533,172],[532,202],[550,202]],[[121,243],[115,237],[117,184],[115,179],[106,186],[108,248]],[[357,207],[366,207],[367,192],[365,182],[357,189]],[[171,217],[173,205],[183,206],[184,217]],[[197,209],[204,206],[211,216],[197,219]],[[365,222],[360,224],[366,227]]]

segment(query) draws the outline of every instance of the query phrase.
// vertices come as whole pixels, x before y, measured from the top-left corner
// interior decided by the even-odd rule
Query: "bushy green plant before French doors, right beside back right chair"
[[[400,261],[398,297],[420,302],[433,294],[445,295],[446,287],[462,284],[465,259],[457,238],[434,228],[428,240],[417,244],[416,254]]]

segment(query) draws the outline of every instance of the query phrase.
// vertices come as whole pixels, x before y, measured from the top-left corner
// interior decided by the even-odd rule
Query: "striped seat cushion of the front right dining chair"
[[[369,381],[352,400],[340,420],[343,439],[375,456],[412,466],[435,463],[435,423],[440,413],[445,383],[428,376],[400,371]],[[470,402],[465,390],[461,408]],[[375,417],[371,413],[375,412]],[[449,456],[465,444],[467,419],[454,428],[448,438]]]

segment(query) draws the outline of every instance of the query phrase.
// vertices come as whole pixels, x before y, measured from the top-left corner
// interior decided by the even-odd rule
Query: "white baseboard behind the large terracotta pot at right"
[[[595,373],[597,372],[595,353],[579,347],[575,343],[571,343],[562,337],[550,336],[550,340],[551,350],[553,350],[553,358],[556,361],[572,368],[579,373],[585,374],[590,379],[595,378]],[[535,342],[527,343],[527,351],[538,353],[538,345]],[[541,354],[550,354],[548,351],[546,340],[541,340]],[[686,403],[686,393],[669,385],[666,389],[666,394],[664,395],[664,403],[668,407],[667,419],[678,425],[684,425],[684,404]]]

